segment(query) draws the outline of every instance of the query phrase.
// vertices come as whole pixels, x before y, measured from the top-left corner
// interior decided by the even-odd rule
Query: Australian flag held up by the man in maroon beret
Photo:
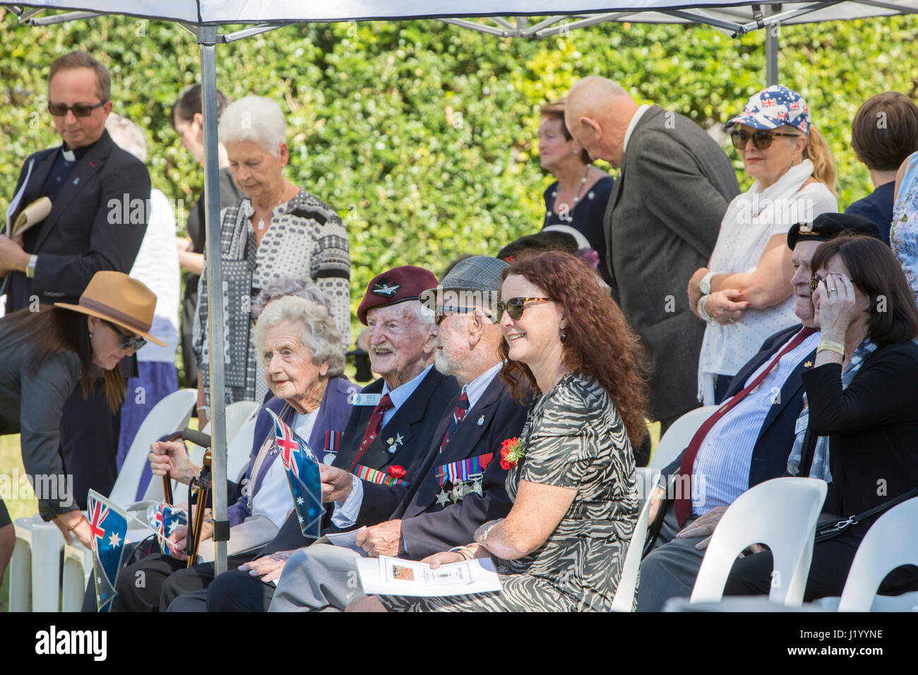
[[[268,411],[274,418],[274,440],[284,462],[287,482],[293,493],[297,520],[303,536],[318,539],[321,536],[322,481],[319,478],[319,460],[313,455],[309,444],[297,436],[274,411]]]

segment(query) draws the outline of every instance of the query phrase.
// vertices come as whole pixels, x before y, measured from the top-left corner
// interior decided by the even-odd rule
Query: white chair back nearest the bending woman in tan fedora
[[[130,395],[130,394],[129,394]],[[195,407],[195,389],[179,389],[159,401],[140,423],[140,429],[130,444],[128,456],[118,471],[118,479],[108,499],[119,506],[134,502],[140,475],[150,456],[150,445],[161,436],[184,429]],[[155,482],[155,481],[154,481]],[[159,481],[162,482],[162,481]],[[162,487],[160,488],[162,491]]]

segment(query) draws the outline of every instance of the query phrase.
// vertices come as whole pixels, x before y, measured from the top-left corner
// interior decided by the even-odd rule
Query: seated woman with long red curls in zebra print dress
[[[599,277],[574,256],[518,259],[498,304],[501,371],[514,396],[534,382],[511,465],[505,519],[475,543],[427,558],[432,567],[493,557],[501,591],[438,598],[378,596],[357,611],[606,610],[637,519],[632,444],[644,429],[639,347]]]

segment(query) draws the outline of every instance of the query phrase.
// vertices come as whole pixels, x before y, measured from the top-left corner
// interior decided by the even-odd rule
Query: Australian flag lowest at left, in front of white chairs
[[[124,537],[128,534],[128,517],[94,489],[89,490],[88,501],[95,603],[99,612],[110,612],[118,595],[115,589],[124,555]]]

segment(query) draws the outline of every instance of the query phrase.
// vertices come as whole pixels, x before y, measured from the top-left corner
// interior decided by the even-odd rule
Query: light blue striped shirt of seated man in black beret
[[[796,333],[783,343],[779,354],[793,340]],[[737,497],[749,489],[749,468],[758,434],[771,406],[779,402],[781,388],[790,374],[816,348],[821,333],[814,332],[778,361],[778,366],[768,373],[753,391],[737,403],[713,427],[695,457],[692,467],[692,513],[703,515],[717,506],[730,506]],[[752,382],[767,368],[774,355],[744,384]],[[793,438],[788,438],[788,453]]]

